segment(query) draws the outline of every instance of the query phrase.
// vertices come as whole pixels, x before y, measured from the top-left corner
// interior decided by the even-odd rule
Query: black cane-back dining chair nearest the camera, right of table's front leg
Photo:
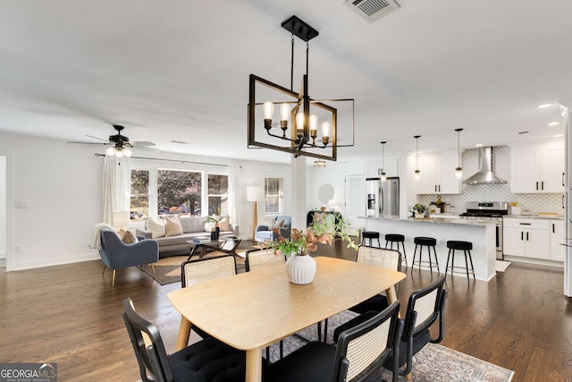
[[[383,364],[399,354],[403,321],[400,301],[340,335],[337,345],[311,342],[264,371],[268,382],[366,381],[379,377]],[[394,361],[393,369],[397,369]],[[392,380],[398,380],[393,373]]]

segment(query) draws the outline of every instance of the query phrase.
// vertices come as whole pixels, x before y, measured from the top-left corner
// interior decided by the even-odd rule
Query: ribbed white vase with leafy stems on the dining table
[[[310,284],[314,281],[315,259],[309,254],[318,249],[318,242],[332,245],[332,239],[339,237],[341,241],[348,242],[348,248],[357,250],[357,244],[346,231],[349,222],[328,217],[330,216],[316,209],[314,220],[306,231],[292,228],[289,238],[280,236],[277,241],[271,243],[276,253],[288,257],[286,271],[290,283]],[[273,228],[273,231],[280,234],[278,228]]]

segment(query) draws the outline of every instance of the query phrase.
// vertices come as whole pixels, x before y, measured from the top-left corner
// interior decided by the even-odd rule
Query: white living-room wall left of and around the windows
[[[3,230],[7,233],[7,270],[99,259],[97,251],[88,248],[93,242],[91,229],[101,220],[103,158],[95,157],[96,152],[103,149],[0,132],[0,156],[6,156],[7,164],[7,230]],[[265,176],[282,176],[286,213],[291,208],[290,165],[161,153],[152,156],[237,168],[242,237],[249,237],[252,229],[252,203],[246,201],[248,185],[263,187]],[[22,202],[28,207],[14,207]],[[258,206],[260,221],[264,218],[263,200]]]

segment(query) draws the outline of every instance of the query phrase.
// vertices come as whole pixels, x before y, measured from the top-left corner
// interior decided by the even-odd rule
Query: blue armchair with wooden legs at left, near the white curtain
[[[103,273],[105,273],[105,267],[114,271],[112,286],[115,285],[116,269],[155,263],[159,259],[159,245],[155,240],[141,240],[133,244],[125,244],[112,229],[104,228],[99,234],[101,235],[99,256],[104,262]],[[153,273],[155,273],[155,267],[153,267]]]

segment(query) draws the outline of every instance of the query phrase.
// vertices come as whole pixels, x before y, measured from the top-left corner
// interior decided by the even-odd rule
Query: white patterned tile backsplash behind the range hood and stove
[[[463,180],[476,173],[478,168],[478,149],[468,149],[463,152]],[[454,169],[451,169],[451,172]],[[564,193],[511,193],[510,192],[510,148],[496,146],[492,148],[492,172],[505,184],[463,184],[460,194],[442,195],[442,200],[449,206],[445,209],[450,213],[461,213],[467,209],[467,201],[516,201],[523,213],[538,214],[539,212],[564,213],[562,196]],[[419,195],[419,202],[428,205],[437,199],[436,195]]]

